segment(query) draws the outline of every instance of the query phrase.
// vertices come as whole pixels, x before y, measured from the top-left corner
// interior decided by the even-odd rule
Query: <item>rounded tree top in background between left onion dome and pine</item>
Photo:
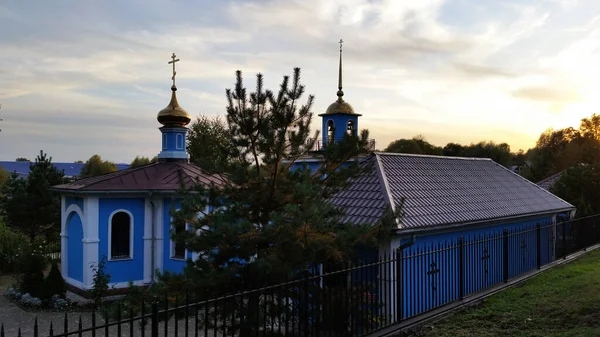
[[[207,172],[221,172],[230,165],[234,145],[227,125],[219,116],[200,115],[187,137],[190,162]]]

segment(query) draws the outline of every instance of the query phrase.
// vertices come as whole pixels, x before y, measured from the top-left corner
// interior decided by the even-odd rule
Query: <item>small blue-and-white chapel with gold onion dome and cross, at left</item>
[[[86,295],[93,266],[103,257],[115,288],[147,285],[153,271],[181,272],[185,247],[170,238],[171,209],[181,187],[221,184],[189,162],[186,135],[190,115],[177,102],[175,54],[171,101],[157,116],[162,124],[158,162],[52,187],[61,194],[61,271],[70,290]],[[178,229],[180,230],[180,229]]]

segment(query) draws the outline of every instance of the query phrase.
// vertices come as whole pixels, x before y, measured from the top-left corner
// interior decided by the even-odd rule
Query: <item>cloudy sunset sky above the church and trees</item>
[[[597,0],[3,0],[0,29],[0,160],[156,155],[172,53],[193,118],[224,116],[238,69],[277,90],[300,67],[315,129],[341,38],[344,98],[378,149],[527,150],[600,106]]]

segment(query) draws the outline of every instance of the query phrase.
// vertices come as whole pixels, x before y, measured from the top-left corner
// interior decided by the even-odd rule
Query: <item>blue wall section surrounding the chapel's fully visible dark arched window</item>
[[[144,279],[144,198],[101,198],[99,200],[99,257],[106,256],[106,272],[111,282],[139,281]],[[133,258],[110,260],[109,218],[117,210],[126,210],[133,216]]]

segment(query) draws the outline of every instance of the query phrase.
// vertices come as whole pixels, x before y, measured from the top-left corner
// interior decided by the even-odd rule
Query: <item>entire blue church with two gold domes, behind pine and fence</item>
[[[61,269],[74,292],[85,294],[92,288],[92,266],[103,257],[116,288],[129,281],[147,285],[154,271],[180,272],[185,260],[193,258],[170,239],[171,210],[180,204],[177,192],[195,183],[224,182],[189,163],[186,126],[191,119],[177,102],[177,61],[173,54],[171,101],[157,116],[162,124],[159,161],[53,187],[62,196]],[[292,169],[304,165],[317,169],[328,144],[347,133],[357,135],[361,115],[343,98],[341,46],[338,72],[337,100],[319,115],[322,139]],[[370,146],[374,150],[374,141]],[[331,201],[345,211],[344,222],[350,225],[374,224],[386,209],[403,213],[393,238],[374,252],[379,256],[393,257],[398,248],[424,248],[459,237],[554,223],[575,213],[573,205],[486,158],[372,152],[360,160],[373,170],[354,179]],[[554,248],[546,250],[545,259],[554,258]],[[394,275],[382,282],[395,283]]]

